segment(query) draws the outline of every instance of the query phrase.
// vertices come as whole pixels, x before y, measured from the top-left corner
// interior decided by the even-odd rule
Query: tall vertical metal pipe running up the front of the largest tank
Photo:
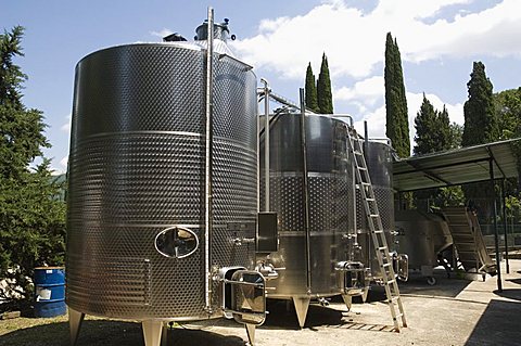
[[[208,7],[206,47],[206,128],[205,128],[205,169],[204,169],[204,261],[206,266],[206,278],[204,280],[204,296],[206,310],[211,313],[212,292],[212,142],[213,142],[213,55],[214,55],[214,9]]]

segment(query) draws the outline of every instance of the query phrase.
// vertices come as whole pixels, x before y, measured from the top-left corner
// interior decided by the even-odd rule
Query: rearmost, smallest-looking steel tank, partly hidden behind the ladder
[[[393,149],[387,141],[366,141],[365,158],[369,169],[372,189],[377,198],[378,210],[382,219],[383,230],[390,251],[395,249],[394,236],[394,193],[393,193]],[[361,247],[363,261],[367,264],[374,279],[381,278],[380,266],[374,246],[372,245],[371,234],[367,227],[366,214],[361,203],[360,193],[357,192],[356,203],[356,225],[358,233],[358,242]]]

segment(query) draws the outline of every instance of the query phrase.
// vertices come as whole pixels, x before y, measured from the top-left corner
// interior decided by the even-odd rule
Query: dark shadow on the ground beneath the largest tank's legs
[[[69,346],[68,323],[37,325],[0,336],[0,346]],[[141,323],[109,320],[84,321],[76,346],[143,346]],[[244,346],[239,336],[176,328],[168,331],[168,346]]]

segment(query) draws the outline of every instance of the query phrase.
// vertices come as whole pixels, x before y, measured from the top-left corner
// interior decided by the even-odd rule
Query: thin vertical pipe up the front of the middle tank
[[[312,252],[309,234],[309,185],[307,181],[307,143],[306,143],[306,106],[304,104],[304,89],[300,89],[301,98],[301,145],[302,145],[302,169],[303,169],[303,192],[304,192],[304,220],[306,229],[306,279],[307,293],[312,293]]]

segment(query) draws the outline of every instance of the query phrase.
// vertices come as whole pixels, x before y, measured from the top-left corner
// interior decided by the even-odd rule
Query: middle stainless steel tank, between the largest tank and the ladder
[[[305,125],[309,194],[308,266],[300,118],[300,114],[285,113],[271,120],[269,202],[270,209],[278,213],[279,251],[257,258],[283,268],[278,271],[277,280],[267,283],[268,297],[293,299],[303,325],[309,298],[341,294],[335,264],[347,259],[346,235],[354,231],[354,184],[346,125],[330,116],[308,114]],[[260,181],[264,181],[264,138],[260,158]],[[263,206],[265,196],[263,188],[260,190]]]

